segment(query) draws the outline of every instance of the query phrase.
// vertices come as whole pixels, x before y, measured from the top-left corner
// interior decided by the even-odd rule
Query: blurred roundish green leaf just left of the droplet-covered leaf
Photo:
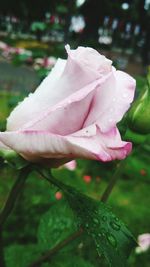
[[[38,242],[51,249],[77,230],[74,214],[66,202],[59,201],[46,212],[39,224]]]

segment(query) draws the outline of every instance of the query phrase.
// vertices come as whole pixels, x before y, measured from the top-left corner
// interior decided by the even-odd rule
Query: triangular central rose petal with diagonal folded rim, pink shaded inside
[[[51,133],[68,135],[82,129],[89,115],[95,90],[109,79],[108,74],[59,102],[54,107],[41,112],[36,119],[29,121],[21,130],[46,130]]]

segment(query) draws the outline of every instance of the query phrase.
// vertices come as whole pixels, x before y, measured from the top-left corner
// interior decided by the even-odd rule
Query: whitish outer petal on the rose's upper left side
[[[50,107],[57,101],[59,97],[58,87],[56,86],[60,79],[66,60],[58,59],[55,67],[50,74],[36,89],[34,94],[29,94],[10,114],[7,118],[7,130],[17,130],[23,124],[27,123],[31,118],[36,118],[46,107]]]

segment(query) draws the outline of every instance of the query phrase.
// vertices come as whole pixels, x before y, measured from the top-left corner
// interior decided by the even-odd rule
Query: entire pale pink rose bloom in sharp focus
[[[10,114],[0,147],[28,161],[59,166],[75,158],[124,159],[130,142],[116,123],[130,107],[135,80],[89,47],[70,50]]]

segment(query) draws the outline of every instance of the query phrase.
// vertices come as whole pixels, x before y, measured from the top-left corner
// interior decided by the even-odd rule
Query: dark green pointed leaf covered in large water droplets
[[[131,249],[136,245],[128,228],[103,202],[67,188],[70,206],[78,217],[80,227],[93,239],[99,256],[104,255],[109,266],[125,267]]]

